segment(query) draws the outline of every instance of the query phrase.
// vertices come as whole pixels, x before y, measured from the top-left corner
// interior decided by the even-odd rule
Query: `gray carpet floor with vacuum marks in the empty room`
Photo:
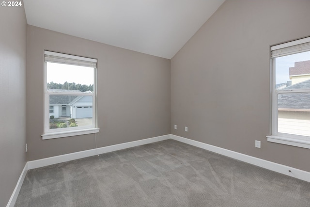
[[[166,140],[29,170],[15,207],[310,207],[310,183]]]

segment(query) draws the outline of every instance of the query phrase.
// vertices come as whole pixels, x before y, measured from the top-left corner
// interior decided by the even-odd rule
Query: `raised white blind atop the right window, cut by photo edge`
[[[310,37],[271,47],[271,58],[310,51]]]

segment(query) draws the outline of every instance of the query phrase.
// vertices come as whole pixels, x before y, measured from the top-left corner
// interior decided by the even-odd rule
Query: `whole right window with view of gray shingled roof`
[[[310,37],[271,47],[269,142],[310,148]]]

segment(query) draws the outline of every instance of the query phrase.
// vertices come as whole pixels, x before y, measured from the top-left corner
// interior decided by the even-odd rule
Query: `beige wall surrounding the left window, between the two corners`
[[[44,50],[98,59],[97,147],[170,134],[170,60],[28,26],[27,159],[95,147],[95,135],[42,140]]]

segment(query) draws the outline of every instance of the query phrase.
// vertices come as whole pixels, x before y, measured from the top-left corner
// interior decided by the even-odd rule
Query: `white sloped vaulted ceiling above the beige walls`
[[[24,0],[27,23],[171,59],[224,0]]]

